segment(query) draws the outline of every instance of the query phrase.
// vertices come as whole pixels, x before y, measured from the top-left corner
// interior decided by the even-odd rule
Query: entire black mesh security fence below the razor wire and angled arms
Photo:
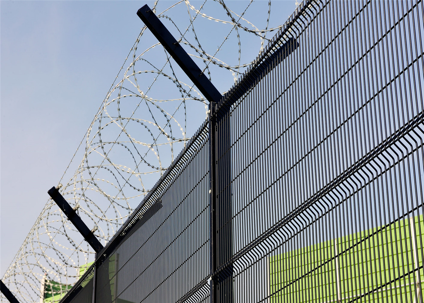
[[[423,16],[302,3],[62,302],[422,302]]]

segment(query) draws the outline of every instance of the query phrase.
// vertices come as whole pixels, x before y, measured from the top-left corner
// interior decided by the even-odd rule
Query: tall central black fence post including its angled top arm
[[[230,128],[228,118],[224,118],[218,129],[215,115],[222,95],[147,4],[137,11],[137,15],[209,101],[210,298],[211,302],[232,302],[232,266],[217,272],[219,266],[232,256]]]

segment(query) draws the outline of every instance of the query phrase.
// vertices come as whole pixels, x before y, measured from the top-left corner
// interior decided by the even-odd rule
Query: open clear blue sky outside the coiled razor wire
[[[265,14],[247,19],[261,28],[268,1],[256,2]],[[134,44],[142,27],[136,12],[145,3],[153,2],[0,1],[2,276]],[[295,1],[273,8],[271,27],[287,20]],[[250,51],[249,60],[257,48]],[[214,84],[221,91],[232,85]]]

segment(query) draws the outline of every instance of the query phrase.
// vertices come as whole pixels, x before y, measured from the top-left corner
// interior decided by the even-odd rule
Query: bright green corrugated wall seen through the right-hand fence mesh
[[[271,302],[413,302],[424,271],[405,273],[423,264],[423,233],[421,215],[413,230],[406,219],[338,238],[337,257],[334,240],[271,257]]]

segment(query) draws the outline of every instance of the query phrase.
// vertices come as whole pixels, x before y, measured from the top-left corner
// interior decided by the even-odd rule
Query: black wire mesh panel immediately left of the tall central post
[[[207,141],[204,125],[100,254],[95,302],[176,302],[184,296],[203,302],[209,296],[201,287],[193,291],[209,276]]]

